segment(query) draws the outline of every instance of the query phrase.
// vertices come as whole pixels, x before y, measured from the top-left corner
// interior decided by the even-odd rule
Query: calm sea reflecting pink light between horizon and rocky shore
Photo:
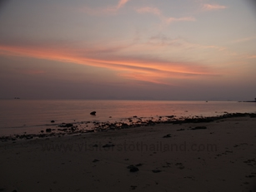
[[[91,116],[91,111],[97,111]],[[256,103],[237,101],[41,101],[0,100],[0,135],[39,133],[50,126],[80,121],[121,121],[157,116],[220,116],[256,112]],[[51,121],[55,121],[54,124]]]

